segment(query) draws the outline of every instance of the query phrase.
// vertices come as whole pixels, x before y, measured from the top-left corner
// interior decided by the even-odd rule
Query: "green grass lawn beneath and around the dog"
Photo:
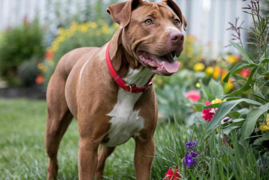
[[[45,179],[47,154],[44,147],[46,102],[27,99],[0,99],[0,179]],[[187,121],[187,120],[186,120]],[[236,136],[223,144],[212,133],[198,147],[200,156],[191,169],[182,167],[185,143],[201,137],[205,122],[187,126],[184,122],[159,120],[155,133],[156,154],[152,179],[164,178],[169,167],[179,165],[186,179],[267,179],[266,156],[240,145]],[[78,179],[77,152],[79,134],[73,120],[58,152],[58,179]],[[106,179],[135,179],[133,167],[134,140],[116,148],[105,167]],[[160,159],[161,158],[161,159]],[[259,161],[257,160],[259,159]],[[262,160],[261,160],[262,159]],[[269,155],[268,155],[269,159]],[[263,165],[263,166],[261,166]],[[267,168],[264,168],[266,167]],[[263,168],[262,168],[263,167]]]

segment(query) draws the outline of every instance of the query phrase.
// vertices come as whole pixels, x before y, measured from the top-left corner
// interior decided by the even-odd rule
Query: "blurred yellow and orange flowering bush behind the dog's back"
[[[73,22],[69,28],[59,28],[57,36],[47,48],[45,60],[38,64],[38,69],[45,76],[45,84],[65,53],[78,47],[101,47],[111,39],[118,27],[116,23],[109,26],[105,21],[99,20],[80,24]]]

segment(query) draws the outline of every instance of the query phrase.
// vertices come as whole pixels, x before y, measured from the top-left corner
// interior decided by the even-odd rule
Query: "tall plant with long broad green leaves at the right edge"
[[[253,146],[259,145],[258,147],[263,150],[264,145],[266,145],[266,143],[264,144],[263,142],[269,140],[269,131],[266,130],[267,127],[269,130],[269,117],[267,115],[269,110],[269,17],[261,16],[259,0],[250,1],[248,7],[243,9],[250,10],[250,12],[244,12],[252,16],[254,28],[240,28],[247,30],[247,32],[254,36],[254,38],[247,44],[256,47],[259,52],[259,57],[254,58],[243,48],[243,45],[240,46],[240,44],[230,41],[241,53],[246,62],[236,64],[225,76],[223,81],[228,82],[229,77],[233,75],[236,82],[240,84],[241,87],[225,96],[223,99],[226,99],[226,102],[204,107],[218,107],[218,110],[208,124],[200,140],[200,144],[218,127],[223,128],[223,131],[235,131],[236,135],[240,137],[241,144],[252,144]],[[237,72],[246,68],[251,71],[248,79],[236,75]],[[236,108],[240,111],[236,111]],[[221,120],[229,114],[233,114],[236,120],[221,125]],[[261,151],[261,153],[262,152],[263,151]]]

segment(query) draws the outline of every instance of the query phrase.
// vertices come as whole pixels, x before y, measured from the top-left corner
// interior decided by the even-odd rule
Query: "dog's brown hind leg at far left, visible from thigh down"
[[[49,157],[47,179],[56,179],[58,172],[57,152],[60,141],[72,121],[65,100],[65,80],[53,76],[47,90],[48,116],[45,132],[45,147]]]

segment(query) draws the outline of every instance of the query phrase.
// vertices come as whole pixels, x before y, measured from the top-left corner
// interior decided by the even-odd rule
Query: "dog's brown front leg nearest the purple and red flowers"
[[[151,165],[155,154],[155,141],[153,135],[147,140],[140,137],[135,138],[136,147],[134,153],[134,168],[136,179],[148,180],[150,179]]]

